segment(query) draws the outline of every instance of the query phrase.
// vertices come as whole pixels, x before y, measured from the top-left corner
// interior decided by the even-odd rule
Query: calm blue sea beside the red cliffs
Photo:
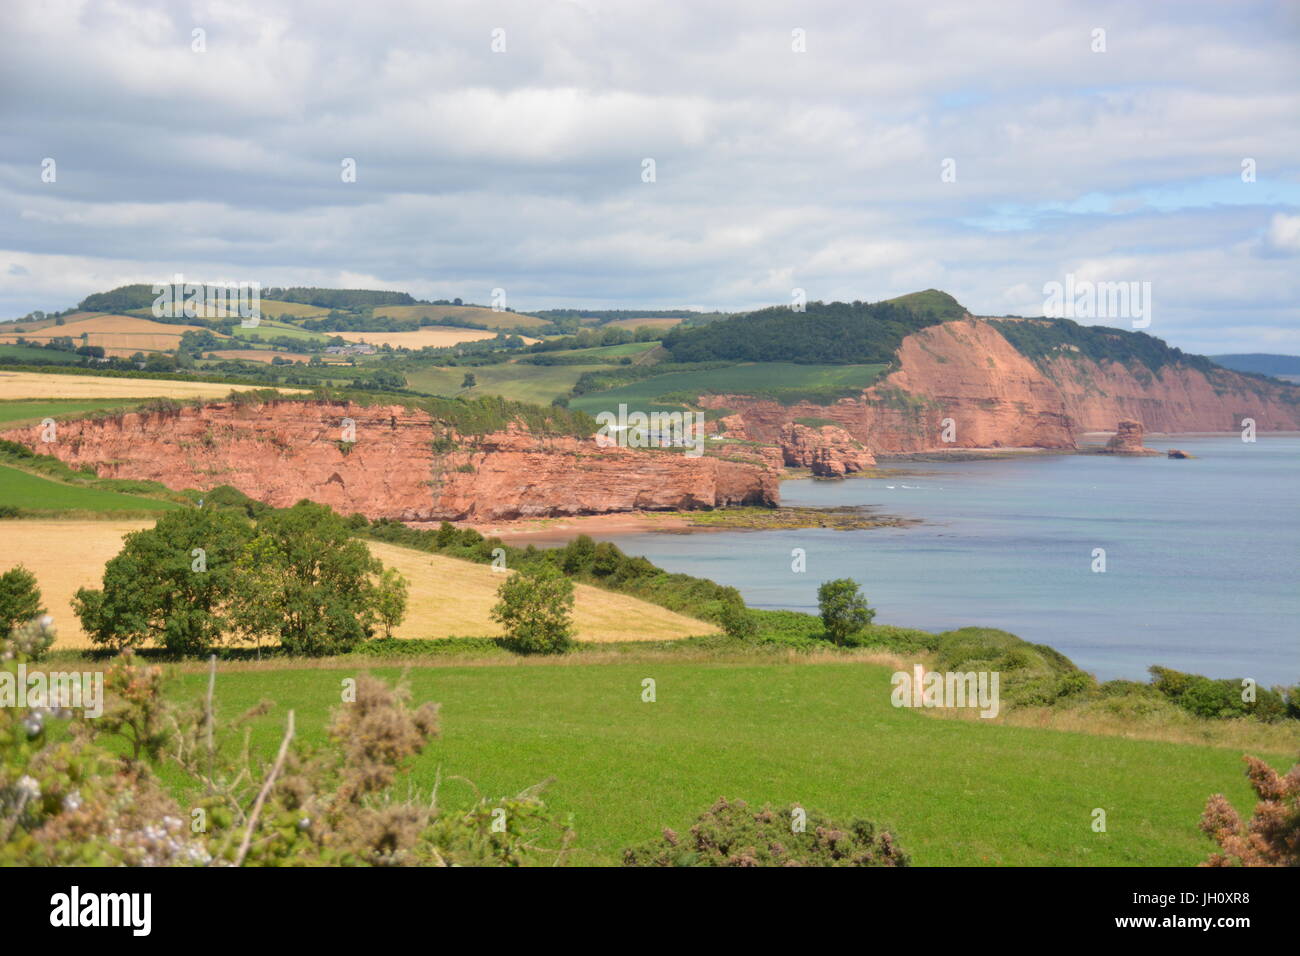
[[[878,623],[1000,627],[1101,679],[1140,679],[1161,663],[1300,682],[1300,438],[1148,444],[1197,458],[1043,455],[786,481],[788,505],[872,505],[923,524],[610,540],[733,585],[757,607],[815,611],[820,581],[853,578]],[[807,553],[805,574],[790,570],[794,548]]]

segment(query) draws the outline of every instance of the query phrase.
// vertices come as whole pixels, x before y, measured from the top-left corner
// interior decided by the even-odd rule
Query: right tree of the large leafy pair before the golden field
[[[347,653],[374,633],[382,588],[373,578],[382,572],[342,518],[304,499],[257,524],[239,557],[233,619],[250,637],[278,636],[292,654]]]

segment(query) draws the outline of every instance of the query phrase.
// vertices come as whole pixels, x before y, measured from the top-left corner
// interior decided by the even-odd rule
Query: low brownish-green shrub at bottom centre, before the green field
[[[907,866],[893,834],[864,819],[835,823],[801,808],[754,812],[742,800],[719,800],[679,836],[663,836],[623,851],[624,866]]]

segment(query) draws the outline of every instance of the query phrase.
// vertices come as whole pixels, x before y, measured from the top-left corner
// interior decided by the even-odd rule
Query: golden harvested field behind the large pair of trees
[[[46,609],[55,618],[57,648],[86,648],[90,639],[73,614],[78,588],[98,588],[104,564],[122,549],[131,531],[152,527],[150,520],[5,520],[0,523],[4,550],[0,572],[23,564],[36,575]],[[407,618],[398,637],[484,637],[499,635],[489,611],[497,604],[502,572],[486,564],[424,554],[407,548],[370,542],[386,567],[395,567],[410,584]],[[712,633],[718,628],[638,601],[577,585],[573,618],[582,641],[673,640]]]

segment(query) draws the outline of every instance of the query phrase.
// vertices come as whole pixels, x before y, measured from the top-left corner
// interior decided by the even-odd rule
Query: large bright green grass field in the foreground
[[[276,701],[252,724],[269,758],[289,709],[302,736],[322,740],[339,682],[355,672],[221,672],[218,710]],[[573,814],[575,861],[601,864],[662,827],[688,827],[719,796],[864,816],[889,825],[918,865],[1187,866],[1210,848],[1196,829],[1206,797],[1253,805],[1231,749],[935,718],[893,708],[889,676],[866,663],[651,658],[415,667],[413,701],[442,702],[442,737],[410,779],[428,793],[441,770],[439,801],[463,806],[472,790],[456,775],[491,797],[554,778],[546,801]],[[641,701],[644,678],[658,684],[654,704]],[[181,675],[170,693],[196,700],[205,680]],[[1092,830],[1095,808],[1106,832]]]

